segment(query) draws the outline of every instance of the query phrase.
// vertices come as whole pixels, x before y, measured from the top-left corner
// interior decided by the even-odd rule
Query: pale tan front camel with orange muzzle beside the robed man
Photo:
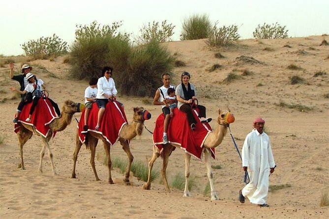
[[[218,110],[219,116],[217,118],[217,128],[215,131],[212,133],[209,133],[208,137],[205,140],[205,143],[203,145],[204,148],[207,148],[204,150],[205,154],[205,163],[207,166],[207,175],[209,179],[209,184],[210,184],[210,194],[211,194],[211,200],[218,200],[218,196],[216,194],[214,185],[213,185],[213,180],[212,180],[212,168],[211,168],[211,152],[208,148],[214,148],[217,147],[223,140],[223,138],[226,136],[227,133],[227,127],[229,126],[229,123],[232,123],[234,121],[234,116],[231,114],[230,109],[228,111],[222,111]],[[230,121],[230,122],[229,122]],[[161,153],[161,157],[163,158],[163,163],[162,163],[162,168],[161,168],[161,175],[162,179],[165,182],[165,185],[167,187],[167,191],[170,192],[170,188],[168,185],[167,181],[167,176],[166,176],[166,168],[168,165],[169,161],[169,156],[171,155],[171,152],[173,151],[174,147],[180,147],[179,145],[176,144],[165,144],[163,145],[163,151]],[[149,161],[149,178],[148,182],[144,184],[143,189],[144,190],[150,190],[151,187],[151,181],[150,181],[150,174],[152,171],[153,163],[155,160],[160,156],[160,153],[158,151],[158,148],[153,145],[153,155],[150,158]],[[190,175],[190,159],[191,155],[188,153],[185,153],[185,189],[184,189],[184,194],[183,196],[191,196],[190,192],[188,190],[188,177]]]

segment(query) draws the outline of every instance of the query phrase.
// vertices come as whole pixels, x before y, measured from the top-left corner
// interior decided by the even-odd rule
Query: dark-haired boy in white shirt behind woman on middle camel
[[[89,85],[86,90],[85,90],[85,126],[84,126],[84,131],[88,131],[88,117],[89,117],[89,112],[92,107],[92,104],[96,102],[96,96],[97,96],[97,81],[98,79],[96,78],[91,78]]]

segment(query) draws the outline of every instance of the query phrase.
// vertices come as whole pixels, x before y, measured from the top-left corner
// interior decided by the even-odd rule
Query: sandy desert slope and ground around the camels
[[[266,120],[267,133],[271,138],[276,171],[270,176],[270,185],[290,184],[275,192],[269,192],[270,208],[261,209],[248,201],[240,204],[238,191],[242,188],[243,172],[239,156],[230,136],[216,150],[216,160],[221,169],[214,169],[215,187],[221,200],[211,201],[203,191],[207,184],[205,164],[191,162],[191,174],[196,185],[193,197],[182,197],[182,191],[173,189],[167,193],[160,179],[152,183],[150,191],[142,190],[143,182],[131,177],[132,186],[123,185],[123,175],[113,171],[116,184],[107,183],[107,168],[102,164],[103,148],[97,148],[96,168],[101,179],[96,182],[89,164],[90,152],[83,148],[77,164],[77,179],[71,179],[72,154],[76,122],[51,141],[58,176],[51,174],[49,159],[43,164],[44,173],[37,173],[41,140],[32,137],[25,145],[26,170],[17,169],[19,149],[13,132],[12,118],[18,99],[12,98],[9,86],[18,84],[8,79],[8,67],[0,68],[1,96],[0,136],[0,218],[328,218],[328,207],[319,207],[321,192],[328,190],[329,171],[329,47],[319,46],[324,37],[309,36],[280,40],[240,40],[235,46],[220,51],[210,51],[203,40],[168,43],[168,48],[186,66],[174,70],[174,80],[179,82],[182,71],[191,73],[191,82],[197,86],[200,102],[208,109],[208,115],[216,118],[218,108],[230,108],[236,116],[231,125],[239,149],[244,137],[251,131],[256,116]],[[289,45],[291,48],[287,47]],[[284,47],[286,46],[286,47]],[[273,51],[268,51],[270,48]],[[225,58],[214,57],[220,52]],[[241,55],[253,57],[261,63],[237,60]],[[30,62],[33,73],[42,78],[51,97],[61,106],[66,99],[83,102],[85,81],[67,79],[69,66],[55,61]],[[209,72],[213,64],[221,68]],[[302,70],[289,70],[290,64]],[[20,63],[16,63],[16,70]],[[43,70],[47,69],[47,71]],[[251,75],[241,76],[229,84],[221,83],[234,71],[243,70]],[[326,75],[314,77],[318,71]],[[52,77],[56,76],[56,78]],[[305,81],[290,84],[289,77],[299,76]],[[146,126],[154,129],[159,107],[142,102],[142,98],[120,96],[128,120],[132,108],[143,106],[152,113]],[[303,112],[298,109],[279,107],[278,104],[299,104],[313,108]],[[77,113],[76,117],[79,118]],[[215,123],[212,122],[215,128]],[[151,135],[144,131],[131,142],[136,160],[147,163],[152,153]],[[126,158],[119,144],[112,150],[113,157]],[[160,168],[161,159],[155,162]],[[183,152],[176,150],[167,168],[169,181],[176,173],[184,172]]]

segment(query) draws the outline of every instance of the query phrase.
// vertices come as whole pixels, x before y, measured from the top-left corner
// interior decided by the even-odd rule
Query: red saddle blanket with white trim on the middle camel
[[[106,104],[104,114],[100,121],[98,131],[95,130],[97,125],[98,106],[96,102],[92,104],[92,108],[89,111],[88,117],[88,131],[101,134],[107,142],[114,145],[119,140],[119,135],[122,127],[128,124],[126,115],[123,109],[120,107],[119,102],[110,101]],[[81,113],[80,122],[78,124],[79,138],[81,143],[85,142],[86,131],[84,131],[85,125],[85,109]]]

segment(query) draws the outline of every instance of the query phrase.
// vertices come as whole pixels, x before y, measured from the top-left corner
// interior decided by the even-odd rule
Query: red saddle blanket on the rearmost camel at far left
[[[56,118],[54,108],[48,99],[40,98],[38,104],[34,108],[34,112],[32,113],[31,121],[27,122],[25,120],[29,117],[31,106],[32,103],[29,103],[23,107],[22,112],[18,117],[18,122],[15,123],[14,131],[15,133],[18,132],[20,126],[18,123],[21,122],[34,126],[36,132],[43,137],[46,137],[50,131],[49,124]]]

